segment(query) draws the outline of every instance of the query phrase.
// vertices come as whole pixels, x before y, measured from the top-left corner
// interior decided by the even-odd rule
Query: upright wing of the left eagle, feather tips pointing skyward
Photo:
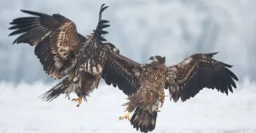
[[[104,43],[107,40],[103,37],[103,35],[108,34],[108,31],[103,29],[110,26],[108,25],[108,20],[102,19],[102,12],[106,8],[108,8],[108,6],[105,6],[105,3],[102,4],[96,30],[93,30],[93,33],[90,34],[88,41],[84,43],[84,46],[81,49],[81,54],[78,57],[78,64],[76,65],[77,73],[79,73],[79,68],[84,65],[85,70],[88,70],[90,65],[90,71],[88,70],[88,72],[91,74],[94,74],[93,67],[96,67],[96,70],[99,71],[98,66],[102,64],[102,47],[104,47],[105,44],[108,44]]]

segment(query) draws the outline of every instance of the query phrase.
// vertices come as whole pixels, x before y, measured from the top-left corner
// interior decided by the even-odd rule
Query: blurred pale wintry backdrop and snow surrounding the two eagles
[[[56,81],[45,75],[34,47],[12,45],[17,36],[8,36],[9,22],[27,16],[20,9],[62,14],[88,35],[102,3],[109,6],[102,14],[111,24],[106,37],[128,58],[147,63],[152,55],[166,55],[166,64],[172,65],[194,53],[219,52],[215,58],[233,64],[240,79],[230,97],[204,90],[187,103],[166,100],[156,132],[256,129],[256,1],[2,0],[0,119],[9,120],[0,121],[0,132],[135,132],[128,122],[118,121],[125,95],[104,82],[81,108],[64,97],[40,101],[38,96]]]

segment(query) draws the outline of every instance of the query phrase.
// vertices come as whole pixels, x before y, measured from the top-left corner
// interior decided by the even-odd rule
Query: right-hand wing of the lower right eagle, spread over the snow
[[[195,97],[205,87],[227,95],[229,90],[233,92],[232,86],[236,88],[234,80],[238,78],[228,69],[232,65],[213,59],[214,54],[217,53],[197,53],[167,68],[166,89],[169,89],[174,102],[179,97],[183,102]]]

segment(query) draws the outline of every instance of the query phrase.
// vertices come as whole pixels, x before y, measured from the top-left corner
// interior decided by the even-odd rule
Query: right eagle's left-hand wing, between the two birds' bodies
[[[119,90],[130,96],[138,91],[140,68],[141,64],[131,59],[120,54],[112,54],[104,64],[102,79],[107,85],[118,86]]]

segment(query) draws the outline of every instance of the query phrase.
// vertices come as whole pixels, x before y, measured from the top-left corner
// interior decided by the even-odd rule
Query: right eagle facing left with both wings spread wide
[[[125,114],[119,119],[129,119],[133,128],[142,132],[155,128],[159,106],[165,100],[165,89],[170,100],[185,102],[195,97],[203,88],[216,89],[228,95],[236,88],[236,75],[230,71],[232,65],[213,59],[217,53],[196,53],[181,63],[166,66],[166,58],[150,57],[150,64],[138,64],[119,54],[109,56],[102,70],[102,78],[108,85],[118,86],[128,95]],[[95,55],[94,55],[95,56]],[[89,58],[89,59],[88,59]],[[91,58],[87,56],[87,60]],[[85,58],[86,60],[86,58]],[[131,112],[134,112],[130,118]]]

